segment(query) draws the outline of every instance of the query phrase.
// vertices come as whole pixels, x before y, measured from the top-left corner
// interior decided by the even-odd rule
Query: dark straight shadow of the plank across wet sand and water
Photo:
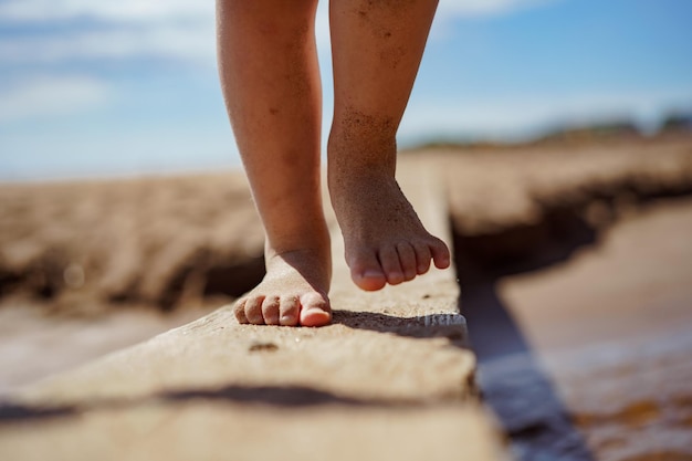
[[[479,358],[479,384],[517,460],[591,461],[557,389],[494,285],[462,286],[463,313]],[[491,329],[492,328],[492,329]],[[492,332],[492,334],[489,334]]]

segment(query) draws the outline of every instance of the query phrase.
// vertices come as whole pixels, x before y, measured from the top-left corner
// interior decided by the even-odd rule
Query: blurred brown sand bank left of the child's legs
[[[61,312],[199,305],[262,275],[263,232],[239,171],[6,185],[0,203],[0,293]]]

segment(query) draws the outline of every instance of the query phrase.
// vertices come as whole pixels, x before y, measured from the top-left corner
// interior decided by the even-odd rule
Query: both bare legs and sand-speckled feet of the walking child
[[[316,7],[316,0],[217,2],[221,85],[266,235],[268,273],[237,302],[241,323],[332,319]],[[449,250],[426,231],[395,180],[396,133],[436,8],[436,0],[331,3],[328,187],[346,261],[363,290],[412,280],[431,261],[450,264]]]

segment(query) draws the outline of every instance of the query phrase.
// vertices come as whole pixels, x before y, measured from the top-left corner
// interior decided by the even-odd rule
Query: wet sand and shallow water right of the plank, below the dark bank
[[[518,459],[692,459],[690,235],[692,200],[652,203],[560,263],[465,286]]]

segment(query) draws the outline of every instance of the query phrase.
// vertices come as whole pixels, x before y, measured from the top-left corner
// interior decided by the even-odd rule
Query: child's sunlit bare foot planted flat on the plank
[[[323,326],[332,321],[328,251],[266,252],[266,275],[235,302],[241,324]]]

